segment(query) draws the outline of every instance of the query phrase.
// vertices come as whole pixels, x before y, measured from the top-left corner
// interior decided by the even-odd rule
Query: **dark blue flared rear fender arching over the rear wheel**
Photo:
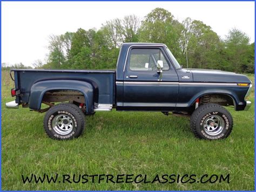
[[[93,86],[92,84],[79,80],[44,80],[33,84],[30,90],[29,108],[41,109],[42,99],[47,91],[73,90],[83,93],[85,97],[86,112],[93,110]]]

